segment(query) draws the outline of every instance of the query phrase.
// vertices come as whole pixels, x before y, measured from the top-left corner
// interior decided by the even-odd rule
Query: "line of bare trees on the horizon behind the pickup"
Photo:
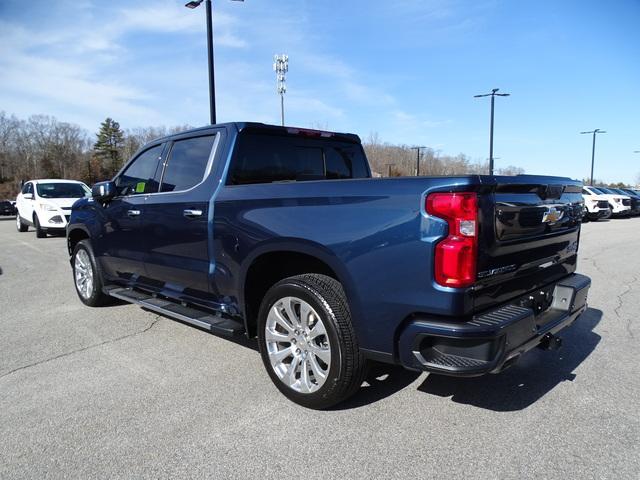
[[[105,119],[95,134],[49,115],[27,119],[0,112],[0,199],[15,198],[22,181],[37,178],[68,178],[88,185],[112,178],[124,162],[145,143],[158,137],[191,128],[142,127],[122,129],[111,118]],[[380,140],[373,133],[363,146],[374,175],[411,176],[416,174],[416,150]],[[420,156],[421,175],[486,174],[488,161],[474,161],[464,154],[441,155],[431,148]],[[499,175],[518,175],[516,166],[496,169]],[[595,183],[595,182],[594,182]],[[599,185],[605,185],[598,182]],[[622,186],[622,183],[611,186]]]

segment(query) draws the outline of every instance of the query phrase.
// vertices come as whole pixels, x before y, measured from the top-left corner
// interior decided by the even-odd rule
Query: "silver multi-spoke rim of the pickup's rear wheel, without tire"
[[[331,346],[320,315],[304,300],[284,297],[267,316],[265,344],[271,367],[289,388],[312,393],[331,367]]]

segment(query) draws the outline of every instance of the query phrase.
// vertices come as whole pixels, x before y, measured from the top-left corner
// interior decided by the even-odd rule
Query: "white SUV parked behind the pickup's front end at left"
[[[16,227],[26,232],[32,225],[38,238],[48,232],[62,233],[71,216],[71,205],[90,196],[89,187],[76,180],[30,180],[16,198]]]

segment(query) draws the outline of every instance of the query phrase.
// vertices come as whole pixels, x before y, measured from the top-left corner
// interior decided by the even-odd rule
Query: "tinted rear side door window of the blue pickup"
[[[188,190],[207,173],[215,135],[188,138],[173,143],[162,176],[161,192]]]

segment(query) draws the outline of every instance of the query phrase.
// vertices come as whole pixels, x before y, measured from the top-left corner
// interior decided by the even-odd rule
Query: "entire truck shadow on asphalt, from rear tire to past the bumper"
[[[601,340],[593,329],[602,311],[589,308],[568,329],[560,333],[563,347],[555,352],[534,349],[511,368],[497,375],[455,378],[429,374],[418,386],[420,392],[449,397],[456,403],[497,412],[522,410],[558,384],[573,381],[574,370],[593,352]],[[406,388],[421,375],[399,366],[373,364],[360,391],[334,410],[348,410],[380,401]]]

